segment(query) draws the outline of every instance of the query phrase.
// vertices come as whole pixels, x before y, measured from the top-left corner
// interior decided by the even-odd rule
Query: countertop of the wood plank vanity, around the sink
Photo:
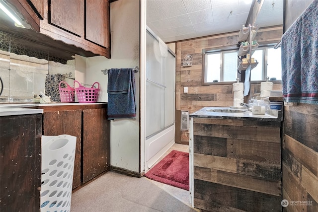
[[[281,122],[282,112],[279,110],[271,110],[271,114],[255,115],[250,111],[242,111],[241,113],[227,113],[227,112],[211,112],[213,109],[231,109],[230,107],[204,107],[192,114],[192,118],[211,118],[211,119],[240,119],[240,120],[254,120],[254,121],[272,121]]]

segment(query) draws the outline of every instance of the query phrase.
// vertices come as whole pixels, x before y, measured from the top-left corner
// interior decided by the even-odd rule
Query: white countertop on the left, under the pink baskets
[[[91,104],[107,104],[107,102],[101,103],[12,103],[12,104],[0,104],[0,116],[16,116],[27,114],[39,114],[43,113],[43,109],[32,109],[28,107],[36,106],[62,106],[62,105],[91,105]]]

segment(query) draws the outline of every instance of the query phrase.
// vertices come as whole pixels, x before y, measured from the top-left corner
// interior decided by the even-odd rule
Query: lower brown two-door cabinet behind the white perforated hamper
[[[107,105],[41,106],[43,135],[77,137],[73,189],[110,167],[110,121]]]

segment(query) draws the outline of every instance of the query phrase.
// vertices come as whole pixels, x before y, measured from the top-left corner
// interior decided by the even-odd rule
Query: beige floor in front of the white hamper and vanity
[[[195,212],[146,177],[107,172],[72,194],[71,212]]]

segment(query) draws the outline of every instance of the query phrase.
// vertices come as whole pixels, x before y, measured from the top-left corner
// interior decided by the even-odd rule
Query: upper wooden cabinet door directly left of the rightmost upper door
[[[84,1],[51,0],[48,21],[49,23],[67,32],[73,33],[79,37],[83,37]]]

